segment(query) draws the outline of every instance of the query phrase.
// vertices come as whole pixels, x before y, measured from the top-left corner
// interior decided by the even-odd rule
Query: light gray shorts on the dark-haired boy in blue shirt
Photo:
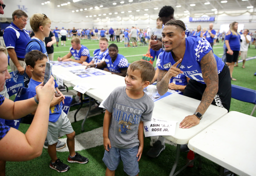
[[[47,140],[48,144],[52,145],[58,141],[58,136],[63,136],[65,134],[70,134],[74,130],[71,126],[67,115],[62,110],[58,120],[55,122],[48,121],[48,131],[47,131]]]

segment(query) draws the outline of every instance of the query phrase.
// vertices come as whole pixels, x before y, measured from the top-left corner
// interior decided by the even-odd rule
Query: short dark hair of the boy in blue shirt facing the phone
[[[43,58],[47,58],[47,55],[45,55],[39,50],[31,50],[25,55],[25,62],[26,62],[26,65],[30,65],[33,68],[35,65],[35,62],[37,60],[42,60]]]

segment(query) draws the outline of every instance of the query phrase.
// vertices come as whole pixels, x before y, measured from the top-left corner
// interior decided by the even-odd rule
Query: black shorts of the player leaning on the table
[[[202,94],[206,88],[206,84],[189,79],[186,84],[183,95],[201,100]],[[224,107],[229,111],[231,101],[231,78],[230,72],[226,64],[222,71],[218,74],[218,91],[211,104]]]

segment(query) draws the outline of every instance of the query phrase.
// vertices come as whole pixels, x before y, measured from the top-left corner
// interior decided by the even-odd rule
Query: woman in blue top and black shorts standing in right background
[[[236,62],[238,55],[240,55],[240,35],[237,33],[238,22],[232,22],[229,26],[229,30],[225,35],[226,44],[226,64],[230,70],[231,80],[236,80],[232,77],[234,63]]]

